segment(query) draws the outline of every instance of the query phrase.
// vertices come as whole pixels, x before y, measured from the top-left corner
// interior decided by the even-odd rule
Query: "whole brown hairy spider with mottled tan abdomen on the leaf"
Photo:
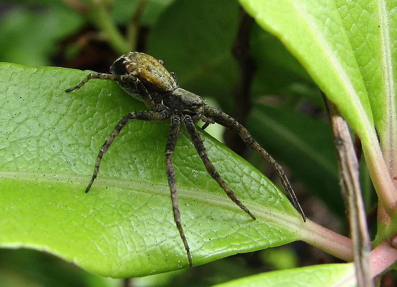
[[[208,106],[204,100],[198,95],[184,90],[179,87],[178,80],[175,73],[170,73],[161,60],[156,60],[152,56],[139,52],[130,52],[124,54],[116,59],[110,67],[111,74],[91,73],[84,78],[76,86],[69,88],[66,92],[81,88],[91,79],[102,79],[117,81],[122,89],[124,89],[132,97],[141,100],[148,107],[149,111],[134,111],[123,116],[118,122],[117,126],[106,138],[96,159],[91,181],[87,185],[86,193],[89,192],[94,180],[99,171],[99,166],[103,154],[108,150],[116,136],[121,129],[127,125],[130,119],[140,119],[142,121],[162,122],[166,119],[171,119],[171,128],[168,135],[168,140],[165,145],[165,171],[168,177],[168,183],[171,191],[172,210],[175,224],[179,231],[179,235],[186,250],[189,266],[193,267],[193,260],[189,244],[181,224],[181,216],[178,206],[178,197],[176,190],[175,172],[172,163],[172,156],[174,154],[175,144],[179,134],[181,123],[185,126],[187,133],[193,142],[194,147],[205,169],[212,176],[212,178],[220,185],[226,195],[236,203],[248,216],[256,220],[253,213],[237,198],[235,193],[226,184],[222,177],[215,170],[210,159],[208,159],[203,141],[197,131],[195,123],[201,120],[204,122],[202,129],[208,125],[218,123],[239,134],[242,140],[255,152],[259,153],[276,170],[281,179],[281,183],[287,192],[287,195],[300,212],[304,221],[306,221],[305,214],[291,188],[291,185],[279,163],[271,157],[260,145],[253,139],[246,128],[240,125],[236,119],[222,112],[219,109]]]

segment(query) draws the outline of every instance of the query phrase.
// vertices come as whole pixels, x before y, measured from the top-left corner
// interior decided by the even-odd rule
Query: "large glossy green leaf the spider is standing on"
[[[145,110],[114,82],[92,80],[65,92],[87,73],[0,65],[0,246],[46,250],[102,276],[187,267],[164,172],[170,123],[129,123],[83,192],[121,116]],[[194,264],[298,240],[304,223],[286,197],[252,165],[202,136],[215,168],[257,221],[227,199],[181,132],[174,164]]]

